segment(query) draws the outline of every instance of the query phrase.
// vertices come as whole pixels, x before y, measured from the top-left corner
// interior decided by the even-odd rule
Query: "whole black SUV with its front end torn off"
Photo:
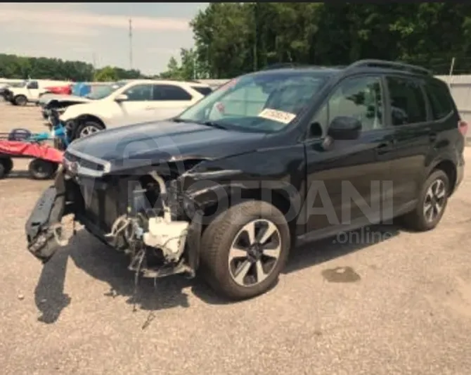
[[[295,244],[393,217],[434,228],[463,179],[466,129],[446,84],[413,65],[243,75],[178,117],[72,142],[28,249],[47,262],[73,214],[138,274],[198,270],[249,298]]]

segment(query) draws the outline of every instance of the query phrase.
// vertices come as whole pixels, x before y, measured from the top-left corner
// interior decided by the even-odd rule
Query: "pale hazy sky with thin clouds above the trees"
[[[193,46],[190,20],[207,3],[0,3],[0,53],[62,58],[157,74]]]

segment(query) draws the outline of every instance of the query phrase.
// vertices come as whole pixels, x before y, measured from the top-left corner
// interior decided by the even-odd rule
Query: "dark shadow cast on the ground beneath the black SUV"
[[[368,237],[365,233],[370,233]],[[333,258],[366,248],[374,243],[385,241],[399,234],[395,225],[372,226],[359,231],[351,231],[346,237],[335,237],[316,241],[290,254],[285,267],[285,274],[299,269],[319,265]],[[363,237],[362,237],[363,236]],[[347,239],[347,240],[345,240]],[[85,230],[79,231],[70,244],[44,265],[34,300],[41,316],[39,322],[53,324],[60,313],[70,304],[71,298],[64,293],[67,260],[72,260],[77,267],[91,277],[105,281],[110,290],[105,293],[109,298],[128,297],[127,303],[134,308],[150,312],[143,329],[150,324],[154,312],[177,306],[189,307],[188,295],[183,288],[191,286],[191,291],[198,298],[209,304],[227,304],[227,300],[219,298],[200,278],[185,279],[179,275],[158,279],[141,279],[137,290],[134,286],[134,273],[127,269],[129,258],[117,253],[94,239]],[[69,261],[70,261],[69,260]],[[321,270],[319,270],[321,272]]]

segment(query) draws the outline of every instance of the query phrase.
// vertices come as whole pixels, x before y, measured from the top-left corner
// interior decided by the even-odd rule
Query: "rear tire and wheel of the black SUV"
[[[441,185],[442,184],[442,185]],[[437,212],[435,201],[430,201],[430,189],[437,189],[439,186],[443,186],[443,190],[439,189],[439,196],[443,194],[441,198],[435,197],[435,201],[439,203],[440,210]],[[443,193],[441,193],[443,191]],[[422,186],[422,191],[420,191],[420,196],[418,197],[417,207],[408,212],[406,215],[401,217],[401,223],[406,227],[406,229],[412,229],[413,231],[430,231],[437,227],[441,217],[443,217],[446,205],[448,203],[450,193],[450,180],[446,173],[442,170],[434,170],[430,176],[427,178],[425,183]],[[427,207],[431,205],[429,210],[426,210]],[[433,210],[436,215],[434,215],[431,220],[430,217],[427,218],[427,215],[430,215],[430,210]]]

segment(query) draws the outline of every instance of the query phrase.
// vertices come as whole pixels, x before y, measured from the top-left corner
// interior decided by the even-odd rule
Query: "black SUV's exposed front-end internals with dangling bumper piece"
[[[136,277],[194,277],[202,213],[179,191],[176,179],[166,180],[155,171],[131,177],[87,180],[60,170],[26,223],[28,250],[48,262],[72,238],[63,237],[61,221],[74,215],[74,224],[127,253]]]

